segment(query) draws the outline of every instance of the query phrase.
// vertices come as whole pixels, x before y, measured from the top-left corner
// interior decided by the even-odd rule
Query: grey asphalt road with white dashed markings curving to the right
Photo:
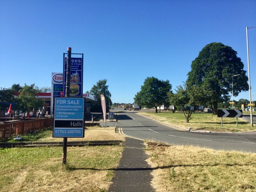
[[[215,150],[256,152],[256,132],[206,133],[170,128],[134,112],[118,113],[121,134],[166,144],[193,145]]]

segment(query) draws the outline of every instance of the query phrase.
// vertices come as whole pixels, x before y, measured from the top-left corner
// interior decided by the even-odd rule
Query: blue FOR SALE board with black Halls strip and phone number
[[[84,98],[55,98],[52,137],[84,137]]]

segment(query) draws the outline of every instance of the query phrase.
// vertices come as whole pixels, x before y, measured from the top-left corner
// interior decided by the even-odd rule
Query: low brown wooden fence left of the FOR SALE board
[[[0,139],[11,138],[16,135],[32,133],[53,126],[53,118],[18,121],[0,124]]]

